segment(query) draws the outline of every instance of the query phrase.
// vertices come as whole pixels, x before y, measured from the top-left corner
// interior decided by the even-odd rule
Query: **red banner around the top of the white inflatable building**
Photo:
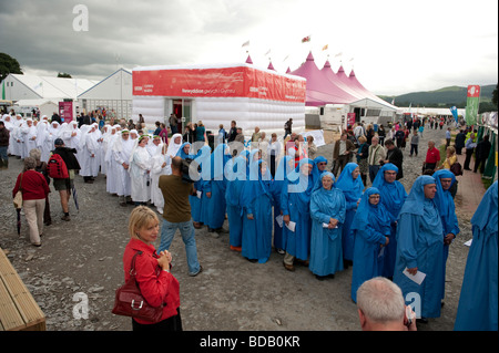
[[[247,66],[133,71],[133,95],[305,102],[306,81]]]

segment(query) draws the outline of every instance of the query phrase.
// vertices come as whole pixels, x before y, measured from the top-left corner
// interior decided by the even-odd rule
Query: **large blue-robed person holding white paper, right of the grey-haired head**
[[[397,219],[394,282],[400,287],[406,302],[415,305],[417,318],[422,320],[440,316],[445,281],[442,226],[434,201],[436,193],[435,178],[419,176]],[[425,274],[420,284],[410,278],[418,272]]]

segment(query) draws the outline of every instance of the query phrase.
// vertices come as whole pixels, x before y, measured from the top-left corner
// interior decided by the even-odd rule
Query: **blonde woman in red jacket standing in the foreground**
[[[179,281],[170,273],[172,255],[169,251],[161,251],[157,255],[153,246],[160,233],[156,214],[145,206],[135,207],[130,215],[129,231],[131,239],[123,255],[125,281],[130,278],[133,256],[142,251],[135,260],[135,278],[139,288],[150,305],[163,305],[163,316],[160,322],[151,323],[132,319],[133,331],[182,331]]]

